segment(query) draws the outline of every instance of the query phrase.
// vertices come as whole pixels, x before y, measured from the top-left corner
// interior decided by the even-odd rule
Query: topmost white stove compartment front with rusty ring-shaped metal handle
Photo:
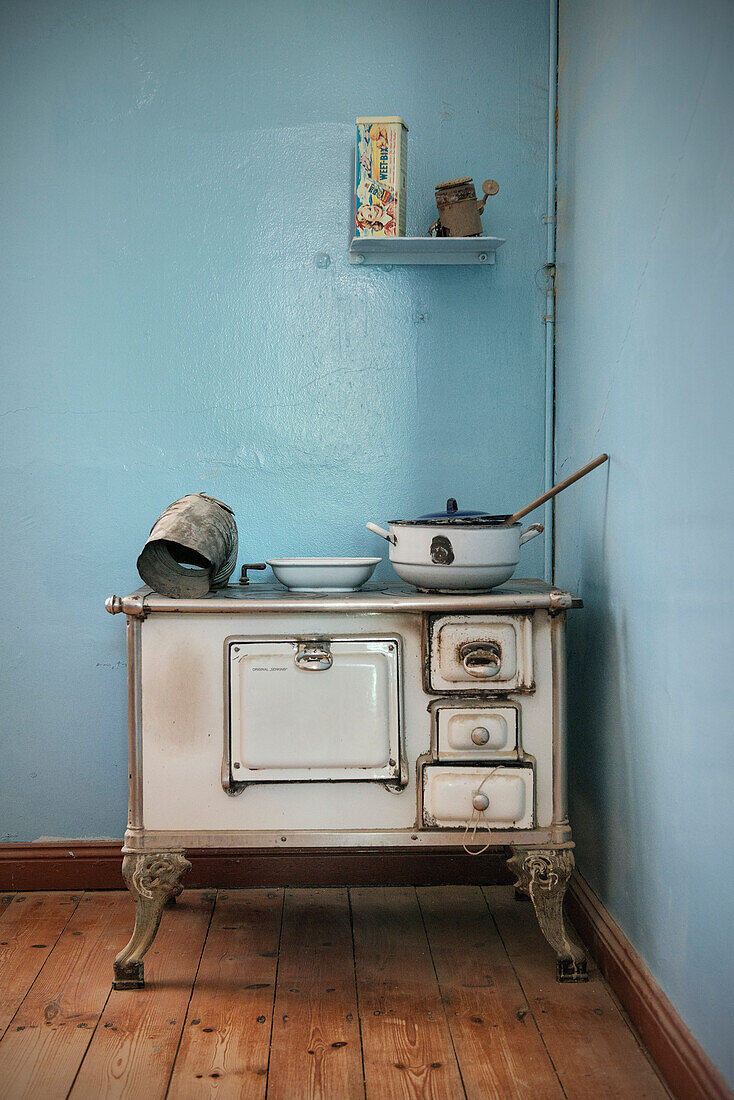
[[[533,691],[529,615],[450,615],[434,619],[428,653],[432,692]]]

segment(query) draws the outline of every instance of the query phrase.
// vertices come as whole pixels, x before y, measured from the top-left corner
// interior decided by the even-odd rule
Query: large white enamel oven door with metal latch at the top
[[[223,781],[407,783],[397,637],[228,638]]]

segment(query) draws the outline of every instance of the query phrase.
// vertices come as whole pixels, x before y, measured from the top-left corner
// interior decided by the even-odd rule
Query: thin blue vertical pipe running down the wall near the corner
[[[548,205],[544,221],[547,230],[546,274],[546,449],[545,487],[554,484],[555,458],[555,394],[556,394],[556,110],[558,105],[558,0],[548,2]],[[544,578],[554,579],[554,502],[544,507],[546,526]]]

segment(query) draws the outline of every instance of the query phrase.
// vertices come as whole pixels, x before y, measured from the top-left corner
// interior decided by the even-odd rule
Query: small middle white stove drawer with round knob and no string
[[[438,706],[439,760],[517,756],[516,706]]]

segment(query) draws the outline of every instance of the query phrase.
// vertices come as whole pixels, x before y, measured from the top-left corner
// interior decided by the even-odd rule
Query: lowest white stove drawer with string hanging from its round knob
[[[533,769],[499,767],[442,767],[423,770],[423,824],[428,827],[533,828]]]

